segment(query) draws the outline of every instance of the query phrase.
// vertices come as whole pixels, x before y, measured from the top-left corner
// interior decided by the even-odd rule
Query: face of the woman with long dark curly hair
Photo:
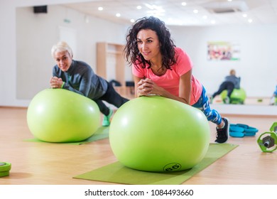
[[[149,61],[161,60],[161,45],[157,33],[150,29],[142,29],[136,36],[139,52]]]

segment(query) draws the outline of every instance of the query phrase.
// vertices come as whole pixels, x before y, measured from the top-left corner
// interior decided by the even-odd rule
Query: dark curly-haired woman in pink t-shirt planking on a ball
[[[201,109],[217,124],[215,141],[227,141],[228,119],[210,109],[205,87],[192,75],[192,61],[175,46],[163,21],[153,16],[137,20],[127,33],[124,56],[132,65],[136,97],[160,95]]]

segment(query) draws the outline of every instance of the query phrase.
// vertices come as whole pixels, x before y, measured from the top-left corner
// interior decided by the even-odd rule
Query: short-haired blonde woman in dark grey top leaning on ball
[[[109,126],[113,110],[103,101],[119,108],[129,99],[121,97],[114,87],[107,80],[96,75],[87,63],[73,60],[72,49],[67,43],[61,41],[53,45],[51,53],[56,65],[53,67],[50,87],[70,90],[92,99],[104,114],[102,126]]]

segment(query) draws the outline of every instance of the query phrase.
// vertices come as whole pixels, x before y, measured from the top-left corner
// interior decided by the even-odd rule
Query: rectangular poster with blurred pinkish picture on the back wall
[[[227,41],[207,42],[208,60],[240,60],[239,44]]]

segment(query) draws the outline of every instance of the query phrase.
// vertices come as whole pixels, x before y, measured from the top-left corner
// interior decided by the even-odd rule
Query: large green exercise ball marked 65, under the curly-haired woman
[[[131,99],[114,114],[109,128],[114,156],[140,171],[183,171],[202,161],[210,126],[194,107],[165,97]]]

